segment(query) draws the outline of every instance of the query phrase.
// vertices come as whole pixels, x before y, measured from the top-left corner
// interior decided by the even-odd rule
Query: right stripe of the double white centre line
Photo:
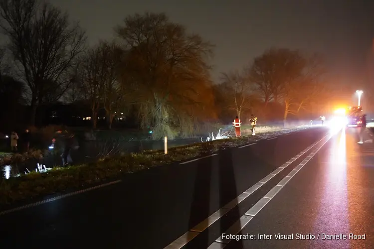
[[[322,141],[323,139],[325,139],[327,136],[329,136],[330,134],[326,135],[324,138],[322,138],[320,141]],[[326,141],[324,141],[321,145],[319,145],[315,150],[313,150],[313,152],[310,153],[310,155],[315,155],[329,140],[330,138],[332,137],[333,135],[330,135],[330,137],[328,137],[326,139]],[[319,143],[320,141],[318,141],[317,143]],[[316,143],[316,144],[317,144]],[[313,156],[311,156],[307,162],[312,158]],[[303,160],[304,162],[305,160]],[[301,165],[300,169],[305,165],[305,163],[303,164],[300,163],[298,166]],[[249,219],[248,217],[255,217],[263,207],[265,207],[265,205],[286,185],[286,183],[298,172],[299,170],[292,170],[290,172],[290,174],[288,174],[286,177],[284,177],[276,186],[274,186],[264,197],[262,197],[255,205],[253,205],[253,207],[251,207],[242,217],[239,218],[238,221],[236,221],[236,223],[242,221],[242,220],[245,220],[245,221],[248,221],[245,223],[244,226],[240,226],[240,229],[236,229],[235,231],[230,231],[230,229],[228,229],[226,232],[224,232],[224,234],[228,234],[228,235],[237,235],[250,221],[251,219]],[[236,224],[235,223],[235,224]],[[234,224],[234,225],[235,225]],[[233,226],[234,226],[233,225]],[[238,228],[239,226],[236,225],[236,227]],[[232,233],[233,232],[233,233]],[[224,248],[231,240],[222,240],[221,237],[217,238],[215,240],[215,243],[222,243],[224,244],[224,246],[222,248]]]

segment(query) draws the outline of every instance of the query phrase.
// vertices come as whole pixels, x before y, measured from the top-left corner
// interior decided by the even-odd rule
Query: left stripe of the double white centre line
[[[217,210],[215,213],[213,213],[212,215],[210,215],[208,218],[206,218],[205,220],[203,220],[202,222],[200,222],[198,225],[196,225],[194,228],[192,228],[190,230],[190,232],[201,233],[202,231],[204,231],[205,229],[207,229],[214,222],[216,222],[222,216],[224,216],[229,210],[231,210],[232,208],[234,208],[236,205],[238,205],[240,202],[242,202],[245,198],[247,198],[249,195],[251,195],[256,190],[258,190],[260,187],[262,187],[262,185],[265,184],[265,182],[263,182],[264,180],[268,181],[271,178],[273,178],[276,174],[278,174],[284,168],[286,168],[288,165],[290,165],[292,162],[294,162],[295,160],[297,160],[298,158],[300,158],[302,155],[304,155],[306,152],[308,152],[311,148],[313,148],[319,142],[321,142],[323,139],[325,139],[328,135],[324,136],[321,140],[319,140],[319,141],[313,143],[312,145],[308,146],[306,149],[304,149],[298,155],[292,157],[289,161],[287,161],[286,163],[282,164],[280,167],[278,167],[277,169],[275,169],[272,173],[270,173],[269,175],[267,175],[266,177],[264,177],[261,181],[259,181],[256,184],[254,184],[252,187],[250,187],[249,189],[247,189],[246,191],[244,191],[243,193],[241,193],[239,196],[237,196],[236,198],[234,198],[233,200],[231,200],[230,202],[228,202],[226,205],[224,205],[221,209]],[[244,146],[249,146],[249,145],[252,145],[252,144],[247,144],[247,145],[244,145]],[[270,200],[268,198],[265,198],[265,199]],[[227,212],[223,212],[222,210],[227,210]],[[244,220],[247,220],[247,219],[244,219]],[[170,245],[168,245],[165,249],[181,249],[184,246],[186,246],[187,243],[190,240],[189,241],[184,240],[183,238],[185,238],[185,235],[186,234],[182,235],[180,238],[178,238],[177,240],[175,240],[174,242],[172,242]],[[177,244],[177,243],[175,243],[177,241],[179,241],[179,242],[180,241],[184,241],[185,243],[183,245],[182,244]],[[212,247],[215,247],[215,246],[217,246],[217,245],[213,245]]]

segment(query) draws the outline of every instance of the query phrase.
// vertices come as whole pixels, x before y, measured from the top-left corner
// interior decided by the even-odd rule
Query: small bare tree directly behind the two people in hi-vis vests
[[[249,107],[250,90],[253,85],[246,75],[240,74],[238,71],[222,73],[221,80],[223,86],[228,90],[230,99],[232,99],[231,107],[240,118],[242,111]]]

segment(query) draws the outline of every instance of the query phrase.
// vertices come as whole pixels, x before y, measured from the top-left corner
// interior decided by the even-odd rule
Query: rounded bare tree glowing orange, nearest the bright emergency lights
[[[283,101],[286,124],[289,114],[297,115],[323,90],[318,83],[324,72],[320,65],[317,56],[302,55],[289,49],[271,49],[255,59],[251,79],[260,89],[266,90],[263,91],[265,101]]]

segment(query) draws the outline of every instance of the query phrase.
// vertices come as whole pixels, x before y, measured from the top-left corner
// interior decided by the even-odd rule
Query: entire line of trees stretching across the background
[[[201,124],[245,121],[251,113],[263,121],[303,119],[323,105],[316,55],[270,48],[213,82],[214,45],[164,13],[127,16],[114,40],[93,47],[78,24],[48,3],[0,0],[0,14],[8,39],[0,54],[4,127],[38,124],[37,114],[57,101],[86,109],[93,128],[99,111],[108,128],[121,113],[151,127],[155,138],[188,136]]]

